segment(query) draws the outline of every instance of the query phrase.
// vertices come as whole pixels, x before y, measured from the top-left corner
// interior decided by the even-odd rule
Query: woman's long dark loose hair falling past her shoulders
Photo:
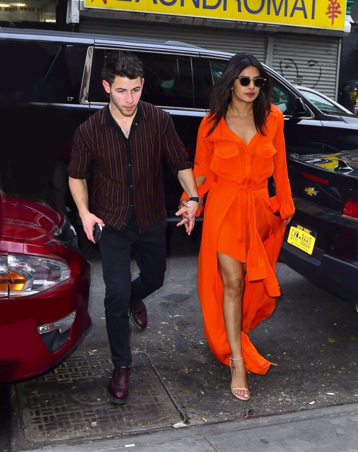
[[[259,95],[253,101],[253,118],[256,129],[261,135],[265,135],[266,120],[271,109],[270,76],[256,57],[251,54],[237,54],[229,59],[220,79],[211,89],[209,122],[212,122],[212,126],[207,136],[213,133],[220,119],[225,116],[227,106],[231,102],[231,88],[238,75],[248,66],[256,67],[260,72],[260,77],[266,79],[265,85],[260,88]]]

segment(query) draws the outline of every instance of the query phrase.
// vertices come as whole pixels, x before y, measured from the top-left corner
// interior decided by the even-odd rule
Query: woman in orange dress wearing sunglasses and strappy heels
[[[217,359],[231,367],[232,394],[248,400],[246,372],[265,374],[272,363],[246,333],[275,308],[275,263],[295,211],[283,115],[270,102],[268,73],[250,54],[232,57],[214,85],[210,113],[198,131],[194,173],[199,196],[209,191],[198,261],[205,336]],[[181,224],[189,220],[185,198],[177,212]]]

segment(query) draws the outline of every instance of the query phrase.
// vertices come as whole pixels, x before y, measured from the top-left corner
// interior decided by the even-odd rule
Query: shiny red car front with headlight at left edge
[[[61,361],[89,328],[90,264],[76,232],[42,202],[2,199],[0,382]]]

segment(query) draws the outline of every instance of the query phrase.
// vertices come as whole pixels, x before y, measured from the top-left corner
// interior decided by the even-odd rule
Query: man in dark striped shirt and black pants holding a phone
[[[107,333],[114,369],[110,400],[128,397],[131,350],[129,316],[143,329],[143,298],[162,287],[165,273],[164,184],[162,157],[193,200],[178,214],[190,234],[200,198],[192,163],[168,113],[140,101],[144,79],[141,61],[114,52],[107,58],[103,80],[110,103],[76,131],[69,165],[69,185],[87,238],[102,229],[99,249],[106,285]],[[86,179],[93,169],[89,209]],[[131,282],[131,252],[140,274]]]

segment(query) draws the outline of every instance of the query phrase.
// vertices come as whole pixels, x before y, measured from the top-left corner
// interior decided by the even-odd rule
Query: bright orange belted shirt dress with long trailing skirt
[[[247,264],[242,354],[247,370],[265,374],[273,363],[257,352],[247,333],[275,308],[280,295],[275,263],[283,240],[283,219],[295,211],[287,174],[283,115],[272,105],[266,136],[257,132],[248,144],[227,127],[223,118],[206,137],[210,127],[207,115],[198,131],[194,162],[195,176],[206,176],[205,183],[198,187],[199,196],[209,192],[198,259],[198,295],[205,337],[216,358],[228,366],[230,348],[217,262],[217,252],[221,252]],[[276,186],[273,198],[267,188],[271,175]]]

